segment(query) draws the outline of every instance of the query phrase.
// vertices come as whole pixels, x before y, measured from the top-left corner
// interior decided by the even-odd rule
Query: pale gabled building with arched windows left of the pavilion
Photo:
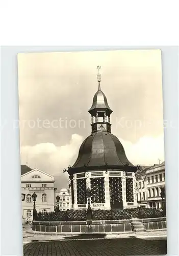
[[[35,192],[37,212],[53,211],[55,206],[54,176],[42,170],[31,169],[27,165],[21,165],[21,193],[25,194],[22,201],[22,216],[28,219],[33,214],[32,194]]]

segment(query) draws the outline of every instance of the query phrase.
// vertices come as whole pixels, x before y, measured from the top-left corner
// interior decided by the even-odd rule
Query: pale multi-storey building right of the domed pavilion
[[[161,188],[165,187],[165,162],[141,166],[136,173],[137,201],[141,207],[161,208]]]

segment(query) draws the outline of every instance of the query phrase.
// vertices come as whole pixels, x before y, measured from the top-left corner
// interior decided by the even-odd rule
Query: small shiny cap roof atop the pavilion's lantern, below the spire
[[[108,110],[108,112],[110,112],[110,114],[113,112],[108,105],[108,101],[107,101],[105,94],[101,90],[98,90],[94,94],[93,103],[88,112],[91,114],[96,109]]]

